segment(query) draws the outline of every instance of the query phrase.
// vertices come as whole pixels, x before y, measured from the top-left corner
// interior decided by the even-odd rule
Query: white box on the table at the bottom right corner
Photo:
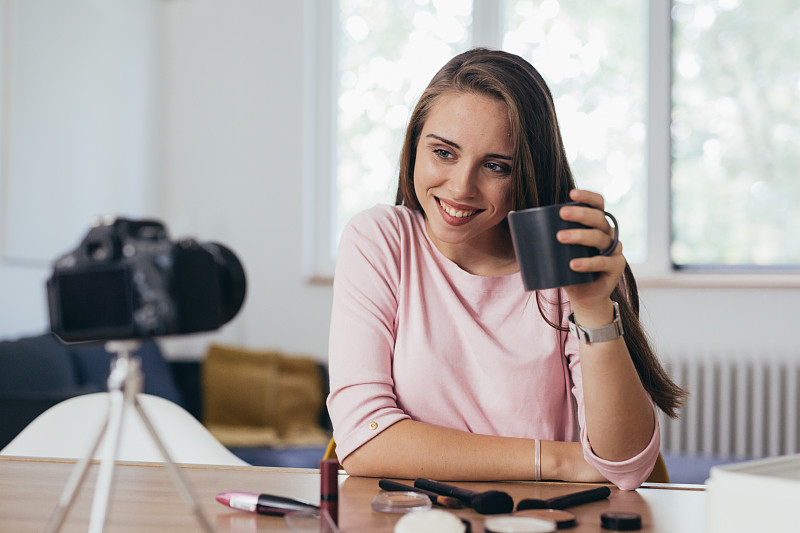
[[[711,468],[709,533],[800,531],[800,454]]]

